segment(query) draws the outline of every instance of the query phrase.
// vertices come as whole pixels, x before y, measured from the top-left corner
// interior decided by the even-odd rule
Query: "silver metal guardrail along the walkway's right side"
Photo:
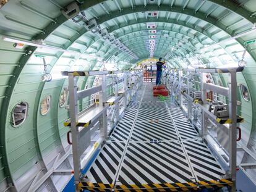
[[[201,125],[200,135],[202,136],[203,139],[207,140],[210,146],[211,143],[215,142],[215,139],[213,137],[209,137],[207,122],[208,120],[218,125],[216,126],[216,128],[225,131],[226,134],[228,135],[229,143],[228,151],[226,152],[228,156],[228,173],[233,181],[232,191],[236,191],[237,123],[243,122],[242,117],[237,116],[236,73],[242,72],[243,69],[243,67],[233,67],[225,69],[171,69],[172,73],[176,72],[176,75],[174,75],[174,78],[172,78],[171,82],[168,79],[168,76],[166,77],[166,80],[164,80],[166,82],[166,85],[169,86],[169,90],[171,90],[171,96],[173,97],[173,99],[176,100],[180,104],[180,106],[186,107],[184,111],[186,111],[187,117],[191,119],[193,123],[195,123],[196,118],[192,117],[192,109],[195,109],[196,107],[200,109],[202,113],[201,119],[199,120]],[[184,76],[183,73],[187,73],[187,75]],[[203,81],[203,75],[205,75],[206,73],[228,73],[228,87],[226,88],[223,86],[218,86],[213,83],[205,83],[205,81]],[[194,75],[200,75],[200,81],[195,82]],[[184,80],[186,81],[186,83],[184,83]],[[202,92],[200,100],[195,100],[190,96],[190,93],[193,90],[192,81],[194,81],[195,83],[197,83],[197,85],[200,86],[200,91]],[[182,91],[182,88],[184,88],[184,92]],[[208,110],[207,91],[212,91],[213,93],[216,93],[217,96],[218,94],[220,94],[222,96],[228,97],[228,117],[216,117]],[[195,126],[197,126],[197,124],[195,124]],[[215,154],[218,155],[218,151],[216,151],[214,147],[212,149],[215,151]],[[220,155],[220,159],[222,158],[223,157]]]

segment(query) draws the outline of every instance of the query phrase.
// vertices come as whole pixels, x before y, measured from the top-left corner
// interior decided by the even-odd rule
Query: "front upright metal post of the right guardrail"
[[[229,73],[229,119],[232,123],[229,127],[229,172],[233,181],[232,191],[236,191],[236,114],[237,114],[237,96],[236,96],[236,72],[230,70]]]

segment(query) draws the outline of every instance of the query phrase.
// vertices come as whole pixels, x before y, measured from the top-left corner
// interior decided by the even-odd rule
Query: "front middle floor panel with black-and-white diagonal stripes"
[[[181,143],[130,143],[116,185],[195,182]]]

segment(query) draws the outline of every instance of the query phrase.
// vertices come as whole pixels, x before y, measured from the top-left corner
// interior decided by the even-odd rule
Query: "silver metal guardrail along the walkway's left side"
[[[121,74],[121,76],[117,77],[117,74]],[[124,111],[129,102],[129,98],[134,96],[138,87],[142,83],[142,71],[65,71],[62,72],[62,75],[69,76],[70,119],[64,122],[64,125],[70,127],[70,131],[67,133],[67,136],[69,143],[72,144],[75,187],[76,190],[79,191],[79,183],[81,182],[80,178],[82,175],[80,171],[88,164],[95,152],[101,148],[101,144],[108,136],[107,110],[109,106],[114,107],[115,123],[113,125],[116,125],[120,118],[119,101],[124,99],[124,109],[122,110]],[[100,85],[86,90],[77,91],[77,78],[75,77],[92,75],[98,75]],[[108,78],[113,78],[113,83],[110,85],[107,85]],[[119,94],[119,83],[122,83],[121,95]],[[114,96],[108,99],[106,89],[111,85],[114,86]],[[82,112],[78,112],[77,101],[95,93],[99,94],[98,103],[83,110]],[[90,128],[87,127],[92,127],[95,123],[98,123],[99,125],[99,138],[95,141],[95,144],[92,146],[90,151],[83,156],[83,152],[87,150],[91,144]],[[72,141],[69,138],[70,134]]]

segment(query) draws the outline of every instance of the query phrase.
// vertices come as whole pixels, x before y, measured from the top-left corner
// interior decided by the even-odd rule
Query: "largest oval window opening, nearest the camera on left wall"
[[[12,110],[12,126],[17,127],[21,125],[27,118],[28,104],[27,102],[18,103]]]

